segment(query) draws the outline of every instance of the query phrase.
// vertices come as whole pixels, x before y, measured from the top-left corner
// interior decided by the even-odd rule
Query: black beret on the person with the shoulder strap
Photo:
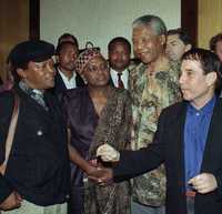
[[[54,45],[42,40],[29,40],[18,43],[9,53],[9,61],[20,68],[30,61],[43,62],[54,54]]]

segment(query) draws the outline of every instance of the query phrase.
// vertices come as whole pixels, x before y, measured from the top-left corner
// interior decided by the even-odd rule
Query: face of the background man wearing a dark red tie
[[[110,67],[115,71],[124,71],[130,64],[130,50],[123,42],[115,42],[109,51]]]

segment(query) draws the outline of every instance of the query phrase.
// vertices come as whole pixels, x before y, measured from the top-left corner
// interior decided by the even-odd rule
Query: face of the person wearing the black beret
[[[30,61],[28,68],[18,69],[18,73],[31,89],[44,90],[54,86],[56,72],[52,59],[43,62]]]

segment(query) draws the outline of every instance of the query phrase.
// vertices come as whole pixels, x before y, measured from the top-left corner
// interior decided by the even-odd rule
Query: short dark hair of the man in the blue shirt
[[[219,57],[210,50],[205,49],[191,49],[182,55],[183,60],[194,60],[201,63],[201,67],[204,71],[204,74],[210,72],[215,72],[218,75],[218,80],[215,83],[215,89],[221,91],[222,86],[222,63]]]

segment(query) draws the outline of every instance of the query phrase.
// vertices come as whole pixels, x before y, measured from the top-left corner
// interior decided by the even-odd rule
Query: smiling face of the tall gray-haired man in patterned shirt
[[[135,55],[145,64],[154,62],[163,52],[164,35],[157,35],[150,27],[133,29],[132,42]]]

